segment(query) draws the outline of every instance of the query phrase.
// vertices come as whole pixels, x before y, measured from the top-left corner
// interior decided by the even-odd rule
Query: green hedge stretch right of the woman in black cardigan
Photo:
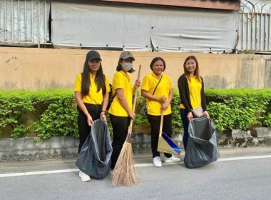
[[[205,89],[205,94],[216,129],[267,125],[271,89]]]

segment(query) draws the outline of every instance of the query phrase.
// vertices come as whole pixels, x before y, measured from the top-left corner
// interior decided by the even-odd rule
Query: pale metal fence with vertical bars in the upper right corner
[[[271,2],[241,0],[237,51],[271,52]]]

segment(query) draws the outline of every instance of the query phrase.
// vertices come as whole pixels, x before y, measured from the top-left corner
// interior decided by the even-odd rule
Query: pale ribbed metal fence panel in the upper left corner
[[[0,0],[0,44],[48,44],[49,0]]]

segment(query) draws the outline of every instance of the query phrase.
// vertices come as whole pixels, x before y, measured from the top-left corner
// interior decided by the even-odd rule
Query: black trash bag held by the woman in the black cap
[[[82,146],[76,166],[89,176],[103,179],[111,166],[112,145],[106,121],[97,119]]]

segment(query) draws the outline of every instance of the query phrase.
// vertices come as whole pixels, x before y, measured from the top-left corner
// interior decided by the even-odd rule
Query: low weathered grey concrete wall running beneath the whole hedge
[[[271,145],[271,128],[256,128],[255,133],[238,130],[218,132],[218,144],[220,148]],[[173,134],[173,141],[183,149],[182,134]],[[0,161],[76,157],[78,144],[78,139],[73,136],[58,136],[41,142],[35,142],[34,137],[0,139]],[[133,134],[132,144],[136,154],[151,152],[148,134]]]

